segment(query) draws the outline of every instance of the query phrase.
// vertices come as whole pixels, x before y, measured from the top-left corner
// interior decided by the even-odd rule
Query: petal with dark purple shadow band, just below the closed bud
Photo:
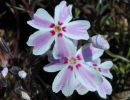
[[[94,61],[102,56],[104,50],[94,47],[91,43],[80,48],[76,55],[80,55],[85,61]]]

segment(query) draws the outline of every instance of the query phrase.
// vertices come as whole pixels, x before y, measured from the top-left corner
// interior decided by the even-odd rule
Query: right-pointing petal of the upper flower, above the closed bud
[[[66,35],[74,40],[88,40],[89,35],[87,29],[89,29],[90,23],[85,20],[73,21],[66,25]]]

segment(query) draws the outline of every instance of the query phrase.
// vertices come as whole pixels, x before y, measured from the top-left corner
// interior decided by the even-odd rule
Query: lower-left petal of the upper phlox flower
[[[29,37],[28,46],[33,46],[34,55],[44,54],[54,41],[54,37],[49,32],[37,31]]]

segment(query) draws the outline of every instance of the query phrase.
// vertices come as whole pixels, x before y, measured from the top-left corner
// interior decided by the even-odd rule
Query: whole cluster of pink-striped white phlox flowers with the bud
[[[112,92],[111,84],[105,78],[112,79],[111,61],[101,63],[100,57],[109,44],[101,35],[90,38],[91,42],[77,50],[78,40],[88,40],[87,30],[90,23],[86,20],[72,21],[72,5],[62,1],[55,7],[54,19],[42,8],[39,8],[33,19],[27,23],[38,29],[27,41],[33,47],[34,55],[46,53],[54,42],[48,58],[50,64],[44,71],[59,71],[52,84],[52,90],[60,90],[70,96],[76,90],[84,95],[88,91],[97,91],[102,98]]]

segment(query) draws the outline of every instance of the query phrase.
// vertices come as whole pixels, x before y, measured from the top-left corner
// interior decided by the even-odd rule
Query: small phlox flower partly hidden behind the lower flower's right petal
[[[100,59],[98,59],[92,62],[87,62],[87,64],[102,75],[103,82],[97,88],[97,92],[102,98],[106,98],[106,95],[110,95],[112,93],[112,86],[105,77],[110,79],[113,78],[110,73],[110,68],[113,66],[113,63],[111,61],[101,63]]]

